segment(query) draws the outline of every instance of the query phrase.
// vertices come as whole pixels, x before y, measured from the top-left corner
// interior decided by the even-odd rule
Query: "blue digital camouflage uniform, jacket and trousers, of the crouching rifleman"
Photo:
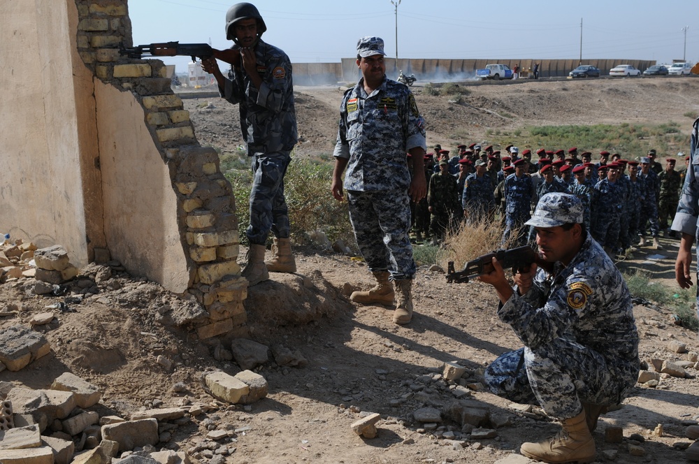
[[[569,419],[581,402],[615,405],[639,370],[631,298],[619,270],[588,233],[574,259],[539,269],[531,289],[498,310],[524,348],[499,356],[484,373],[489,389]]]

